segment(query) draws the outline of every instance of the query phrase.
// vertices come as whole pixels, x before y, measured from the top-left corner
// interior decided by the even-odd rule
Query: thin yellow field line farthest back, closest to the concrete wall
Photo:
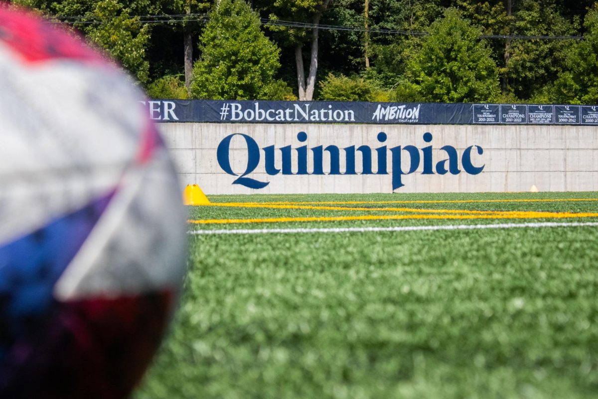
[[[417,201],[324,201],[324,202],[242,202],[251,205],[367,205],[390,203],[504,203],[504,202],[598,202],[598,198],[566,198],[566,199],[494,199],[494,200],[417,200]],[[217,202],[214,204],[225,204]],[[228,202],[231,203],[231,202]]]

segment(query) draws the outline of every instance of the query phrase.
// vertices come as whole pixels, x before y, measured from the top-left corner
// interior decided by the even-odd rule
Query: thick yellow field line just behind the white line
[[[561,218],[591,218],[598,217],[598,213],[571,212],[518,212],[504,215],[359,215],[335,217],[286,217],[286,218],[253,218],[253,219],[203,219],[188,220],[190,224],[233,224],[233,223],[285,223],[310,221],[353,221],[353,220],[404,220],[404,219],[436,219],[436,220],[471,220],[471,219],[561,219]]]

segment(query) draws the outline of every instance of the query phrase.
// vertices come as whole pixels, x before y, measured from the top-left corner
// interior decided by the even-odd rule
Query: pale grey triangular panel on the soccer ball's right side
[[[180,284],[185,212],[164,209],[180,201],[166,150],[127,171],[96,229],[56,285],[62,300],[97,293],[154,291]]]

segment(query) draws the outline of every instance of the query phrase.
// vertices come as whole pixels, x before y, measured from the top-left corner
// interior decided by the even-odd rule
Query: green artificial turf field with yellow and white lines
[[[135,398],[598,397],[598,193],[210,200]]]

